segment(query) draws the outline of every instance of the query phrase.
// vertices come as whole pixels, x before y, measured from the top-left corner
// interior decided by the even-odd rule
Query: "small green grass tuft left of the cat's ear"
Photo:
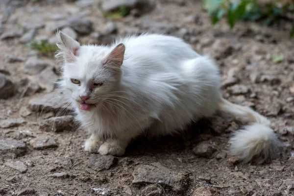
[[[49,44],[47,40],[33,40],[27,46],[46,56],[52,56],[58,49],[56,44]]]

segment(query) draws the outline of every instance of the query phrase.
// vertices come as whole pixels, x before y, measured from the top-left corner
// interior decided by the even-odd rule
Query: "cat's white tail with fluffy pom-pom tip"
[[[279,150],[280,141],[270,128],[270,121],[249,107],[237,105],[221,98],[219,111],[241,122],[249,123],[233,133],[230,139],[230,151],[243,161],[249,162],[253,157],[274,158]]]

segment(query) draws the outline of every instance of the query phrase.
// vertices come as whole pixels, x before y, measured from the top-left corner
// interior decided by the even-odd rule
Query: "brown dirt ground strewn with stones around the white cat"
[[[137,8],[114,20],[103,17],[99,0],[0,1],[0,73],[12,81],[5,80],[9,87],[1,90],[0,96],[15,93],[0,99],[0,195],[294,195],[294,42],[288,35],[290,24],[281,21],[266,27],[240,22],[230,30],[225,21],[212,26],[200,1],[153,2],[155,7],[141,16],[137,16],[141,12]],[[85,21],[63,24],[72,16]],[[40,113],[40,108],[52,101],[42,98],[51,93],[61,62],[25,45],[33,37],[54,43],[54,31],[64,26],[70,26],[73,34],[78,32],[77,39],[86,44],[107,44],[114,36],[149,31],[182,37],[200,54],[209,53],[220,65],[224,97],[271,120],[283,142],[279,157],[267,163],[240,163],[227,150],[228,138],[239,125],[217,116],[192,124],[179,136],[138,138],[123,157],[85,152],[88,136],[71,123],[71,116],[63,116],[70,115],[70,109],[58,114],[61,128],[51,130],[51,117],[54,119],[62,105],[62,97],[50,94],[52,100],[56,98],[55,107],[45,107]],[[29,37],[29,33],[34,35]],[[274,63],[272,54],[284,58]],[[39,102],[34,99],[38,97]],[[49,123],[49,129],[40,123]]]

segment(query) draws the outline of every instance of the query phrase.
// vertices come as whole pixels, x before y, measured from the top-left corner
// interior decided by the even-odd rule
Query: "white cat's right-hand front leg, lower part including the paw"
[[[117,155],[122,156],[125,148],[127,147],[130,139],[107,139],[98,149],[98,152],[102,155]]]

